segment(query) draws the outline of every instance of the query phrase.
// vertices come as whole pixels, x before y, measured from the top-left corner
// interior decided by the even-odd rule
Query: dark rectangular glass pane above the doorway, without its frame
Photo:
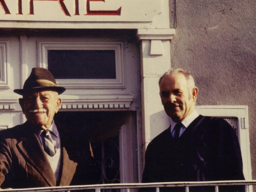
[[[48,50],[55,79],[116,79],[115,50]]]

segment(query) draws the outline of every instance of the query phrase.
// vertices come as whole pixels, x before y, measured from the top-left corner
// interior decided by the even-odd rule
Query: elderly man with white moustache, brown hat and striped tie
[[[64,91],[44,68],[33,68],[23,89],[14,90],[22,95],[19,103],[27,121],[0,131],[1,188],[91,182],[89,142],[76,128],[53,120],[61,105],[58,95]]]

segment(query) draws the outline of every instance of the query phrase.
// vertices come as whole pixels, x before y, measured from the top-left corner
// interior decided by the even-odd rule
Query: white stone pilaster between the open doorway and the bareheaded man
[[[159,96],[158,80],[171,68],[170,40],[175,29],[138,29],[141,41],[143,154],[148,143],[169,126]],[[143,157],[144,159],[144,157]]]

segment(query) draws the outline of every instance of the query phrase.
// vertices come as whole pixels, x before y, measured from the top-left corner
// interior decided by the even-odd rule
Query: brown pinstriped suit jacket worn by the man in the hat
[[[55,122],[56,123],[56,122]],[[61,139],[61,179],[56,179],[44,149],[26,122],[0,131],[1,188],[29,188],[88,184],[92,175],[90,147],[82,133],[56,123]]]

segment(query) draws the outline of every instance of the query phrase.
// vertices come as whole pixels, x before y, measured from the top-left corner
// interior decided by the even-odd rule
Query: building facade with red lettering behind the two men
[[[99,182],[137,183],[147,144],[169,126],[158,79],[171,67],[183,67],[199,87],[199,113],[223,117],[236,129],[250,180],[256,145],[254,4],[1,0],[0,128],[25,121],[13,90],[32,67],[48,68],[67,88],[56,120],[90,134]]]

